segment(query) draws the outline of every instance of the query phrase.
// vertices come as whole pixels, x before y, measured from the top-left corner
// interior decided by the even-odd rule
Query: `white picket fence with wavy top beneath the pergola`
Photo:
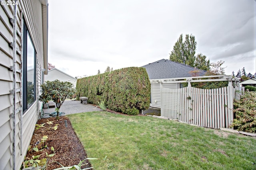
[[[161,86],[161,116],[202,127],[228,128],[233,122],[232,86],[199,89]]]

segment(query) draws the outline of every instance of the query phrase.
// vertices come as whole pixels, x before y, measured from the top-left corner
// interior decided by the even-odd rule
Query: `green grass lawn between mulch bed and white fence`
[[[67,115],[95,170],[256,169],[256,139],[149,116]]]

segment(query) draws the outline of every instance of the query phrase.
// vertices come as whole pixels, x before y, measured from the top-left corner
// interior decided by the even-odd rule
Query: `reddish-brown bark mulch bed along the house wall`
[[[65,126],[65,122],[67,121],[68,127]],[[55,131],[53,129],[47,129],[49,125],[47,121],[53,121],[52,127],[58,124],[58,129]],[[45,123],[45,127],[41,127],[40,129],[35,129],[34,135],[32,136],[30,145],[31,148],[38,147],[40,150],[41,144],[39,143],[44,135],[47,135],[48,139],[46,140],[47,149],[43,149],[40,152],[35,152],[34,150],[30,150],[27,152],[26,158],[32,158],[32,156],[40,155],[38,159],[47,158],[46,153],[52,154],[53,151],[51,147],[54,147],[55,155],[50,157],[47,162],[47,170],[52,170],[55,168],[60,168],[60,164],[63,166],[73,166],[77,165],[80,160],[84,160],[87,158],[86,152],[84,150],[83,145],[80,143],[70,120],[68,117],[61,116],[60,119],[57,121],[55,117],[46,118],[46,119],[39,119],[37,124]],[[39,142],[38,142],[39,141]],[[48,157],[49,158],[49,157]],[[55,162],[54,162],[55,161]],[[58,163],[60,164],[58,164]],[[89,168],[91,167],[90,162],[87,160],[83,163],[88,163],[84,165],[82,168]]]

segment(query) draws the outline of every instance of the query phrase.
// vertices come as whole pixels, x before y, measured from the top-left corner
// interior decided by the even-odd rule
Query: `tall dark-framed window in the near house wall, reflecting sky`
[[[23,24],[23,112],[36,100],[36,51],[28,29]]]

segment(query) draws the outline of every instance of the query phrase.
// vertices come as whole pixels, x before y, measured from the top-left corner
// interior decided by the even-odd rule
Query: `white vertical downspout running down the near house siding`
[[[17,0],[15,1],[17,2]],[[16,4],[16,3],[15,3]],[[14,6],[14,12],[13,12],[13,20],[12,20],[12,29],[13,29],[13,41],[12,41],[12,169],[15,170],[15,124],[16,124],[16,101],[15,101],[15,95],[16,95],[16,14],[17,14],[17,5]]]

